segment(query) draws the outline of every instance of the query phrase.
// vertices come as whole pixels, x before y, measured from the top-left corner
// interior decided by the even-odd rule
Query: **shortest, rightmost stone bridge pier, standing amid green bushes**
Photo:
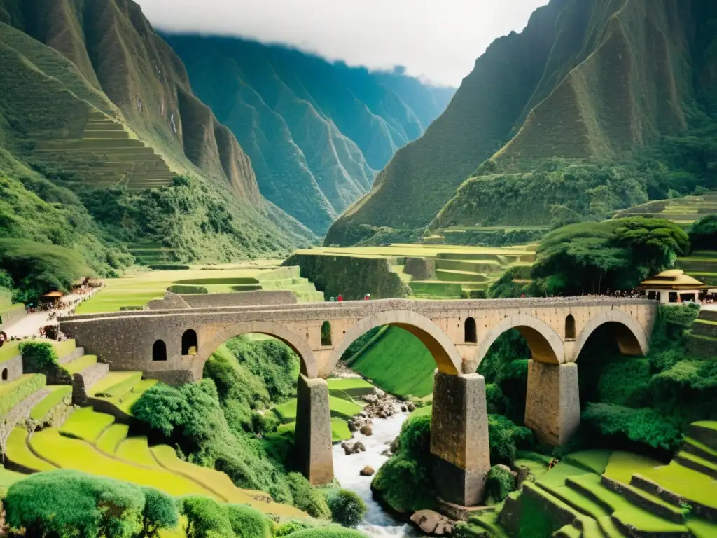
[[[549,445],[566,443],[580,426],[578,365],[528,362],[526,426]]]

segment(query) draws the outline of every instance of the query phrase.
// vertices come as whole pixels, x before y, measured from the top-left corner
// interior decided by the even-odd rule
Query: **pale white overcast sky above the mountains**
[[[136,0],[154,27],[291,44],[457,86],[496,37],[548,0]]]

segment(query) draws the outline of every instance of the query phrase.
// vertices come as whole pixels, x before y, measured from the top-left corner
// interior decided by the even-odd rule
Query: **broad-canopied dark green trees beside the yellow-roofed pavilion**
[[[583,222],[549,233],[537,250],[532,275],[549,294],[630,290],[672,268],[689,252],[687,234],[673,222],[634,217]]]

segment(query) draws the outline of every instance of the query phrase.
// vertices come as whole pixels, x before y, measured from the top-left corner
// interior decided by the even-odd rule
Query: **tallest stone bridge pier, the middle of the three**
[[[485,379],[436,372],[433,382],[431,457],[438,496],[460,506],[483,500],[490,471]]]

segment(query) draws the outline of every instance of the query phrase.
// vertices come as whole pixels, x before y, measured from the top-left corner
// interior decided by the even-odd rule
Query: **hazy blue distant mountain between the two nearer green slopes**
[[[192,89],[250,156],[262,194],[323,234],[454,90],[244,39],[166,34]]]

